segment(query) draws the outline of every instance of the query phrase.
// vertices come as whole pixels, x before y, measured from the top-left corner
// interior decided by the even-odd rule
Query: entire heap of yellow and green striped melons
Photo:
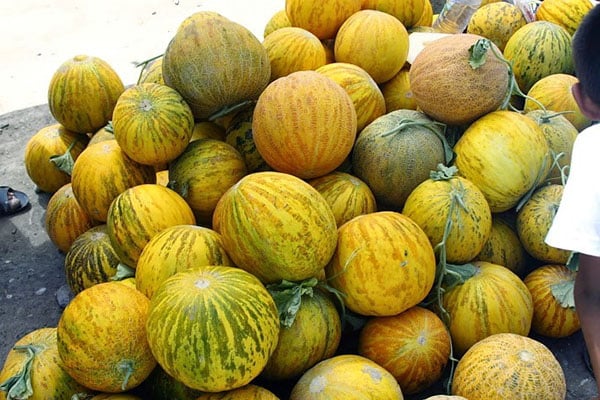
[[[287,0],[260,39],[190,15],[128,87],[66,61],[24,162],[74,297],[0,399],[565,398],[530,334],[579,329],[544,237],[591,7],[431,38],[428,0]]]

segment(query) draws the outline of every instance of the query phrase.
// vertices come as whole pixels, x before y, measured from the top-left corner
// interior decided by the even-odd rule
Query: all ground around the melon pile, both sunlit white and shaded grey
[[[27,193],[32,207],[21,214],[0,217],[0,366],[21,336],[43,326],[55,326],[69,299],[64,255],[44,230],[49,195],[36,192],[23,165],[29,138],[54,123],[45,104],[54,70],[67,58],[88,53],[104,57],[130,84],[139,73],[133,63],[160,54],[177,24],[189,13],[199,9],[221,11],[258,36],[270,15],[284,3],[2,2],[0,35],[8,39],[0,44],[0,184]],[[558,340],[538,339],[554,352],[565,371],[567,399],[585,400],[597,395],[593,377],[583,363],[580,333]],[[422,399],[441,390],[434,387],[407,399]],[[286,388],[279,388],[279,392],[284,396]]]

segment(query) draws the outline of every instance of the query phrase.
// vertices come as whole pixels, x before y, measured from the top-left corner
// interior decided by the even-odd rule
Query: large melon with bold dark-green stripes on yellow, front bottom
[[[148,341],[165,371],[206,392],[242,387],[275,350],[279,315],[252,274],[206,266],[178,272],[150,301]]]

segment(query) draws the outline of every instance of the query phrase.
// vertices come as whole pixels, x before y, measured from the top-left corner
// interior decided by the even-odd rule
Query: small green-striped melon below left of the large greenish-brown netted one
[[[172,161],[186,148],[194,116],[175,89],[143,83],[119,96],[112,123],[115,139],[129,158],[158,166]]]

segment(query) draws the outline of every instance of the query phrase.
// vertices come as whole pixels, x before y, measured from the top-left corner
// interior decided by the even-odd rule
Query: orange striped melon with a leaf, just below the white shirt
[[[562,338],[577,332],[581,325],[574,306],[564,306],[553,294],[555,285],[574,285],[575,271],[562,264],[545,264],[524,279],[533,298],[531,329],[543,336]]]

